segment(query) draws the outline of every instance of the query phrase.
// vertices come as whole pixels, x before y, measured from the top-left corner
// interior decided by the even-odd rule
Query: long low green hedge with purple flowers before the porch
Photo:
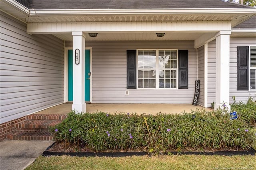
[[[255,128],[244,121],[243,114],[230,120],[230,115],[220,110],[157,116],[71,112],[51,130],[56,142],[85,146],[93,151],[246,150],[256,143]]]

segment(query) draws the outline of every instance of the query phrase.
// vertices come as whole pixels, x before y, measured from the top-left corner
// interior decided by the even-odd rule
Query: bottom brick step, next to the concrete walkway
[[[16,130],[7,134],[8,140],[53,140],[52,133],[49,131],[28,131]]]

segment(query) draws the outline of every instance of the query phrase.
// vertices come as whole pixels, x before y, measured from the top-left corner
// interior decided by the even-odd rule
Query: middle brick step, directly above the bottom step
[[[16,130],[49,130],[49,127],[61,123],[62,120],[24,120],[16,124]]]

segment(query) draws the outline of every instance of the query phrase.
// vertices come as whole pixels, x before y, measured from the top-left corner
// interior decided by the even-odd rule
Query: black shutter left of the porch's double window
[[[136,89],[136,50],[127,50],[127,89]]]

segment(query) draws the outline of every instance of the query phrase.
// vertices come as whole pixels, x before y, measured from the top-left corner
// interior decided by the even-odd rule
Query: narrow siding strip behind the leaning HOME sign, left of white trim
[[[200,80],[199,105],[204,105],[204,46],[197,49],[198,53],[198,80]]]

